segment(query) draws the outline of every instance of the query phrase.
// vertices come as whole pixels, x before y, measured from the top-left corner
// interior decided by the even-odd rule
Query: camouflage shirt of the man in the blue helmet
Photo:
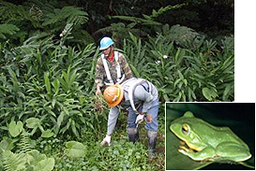
[[[121,75],[125,74],[125,80],[129,78],[133,78],[133,74],[130,70],[130,67],[128,65],[128,62],[124,56],[123,53],[118,52],[118,63],[120,64],[120,69],[121,69]],[[116,61],[113,58],[113,64],[105,57],[107,64],[109,66],[109,70],[111,73],[111,77],[113,78],[113,82],[116,82],[117,79],[117,73],[116,73]],[[98,62],[96,65],[96,72],[95,72],[95,83],[98,84],[100,87],[104,86],[104,82],[109,82],[107,78],[107,74],[105,72],[105,68],[101,59],[101,56],[98,58]]]

